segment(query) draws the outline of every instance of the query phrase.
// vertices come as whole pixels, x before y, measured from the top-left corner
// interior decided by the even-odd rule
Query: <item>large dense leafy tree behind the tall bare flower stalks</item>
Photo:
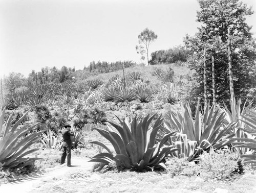
[[[246,16],[253,12],[246,4],[238,0],[199,0],[201,10],[197,20],[202,27],[195,36],[184,38],[185,45],[194,54],[188,57],[191,69],[196,70],[194,79],[199,83],[191,90],[191,95],[203,96],[203,52],[206,49],[207,85],[211,88],[211,58],[215,58],[217,102],[229,101],[227,32],[230,30],[231,60],[234,92],[237,98],[245,99],[251,94],[251,87],[256,83],[255,40],[250,33],[251,27],[245,22]],[[209,89],[208,98],[212,92]],[[255,94],[255,93],[254,93]]]

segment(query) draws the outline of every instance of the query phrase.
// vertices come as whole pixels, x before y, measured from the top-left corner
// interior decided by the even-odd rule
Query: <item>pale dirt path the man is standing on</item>
[[[46,173],[40,175],[30,175],[26,179],[17,180],[7,184],[0,184],[0,192],[33,192],[42,184],[62,179],[66,174],[79,170],[91,170],[93,162],[88,162],[88,158],[72,157],[72,165],[68,167],[66,164],[58,165],[54,168],[46,170]]]

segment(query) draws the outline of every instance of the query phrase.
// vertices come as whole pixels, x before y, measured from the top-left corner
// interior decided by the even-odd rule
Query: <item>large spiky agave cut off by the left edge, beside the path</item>
[[[14,125],[12,125],[12,112],[7,122],[4,123],[5,108],[0,109],[0,168],[24,168],[35,162],[39,158],[29,158],[27,155],[37,151],[38,149],[28,148],[37,141],[42,132],[32,133],[32,129],[37,125],[25,125],[18,128],[25,113]]]

